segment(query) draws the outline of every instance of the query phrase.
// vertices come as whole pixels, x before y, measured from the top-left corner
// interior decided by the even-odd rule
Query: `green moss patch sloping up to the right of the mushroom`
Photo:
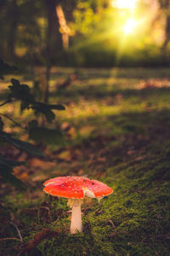
[[[169,160],[163,166],[168,167]],[[141,171],[139,177],[135,177],[135,172],[134,178],[129,175],[133,170],[134,166],[131,163],[129,167],[128,162],[110,168],[107,181],[114,171],[114,182],[110,181],[114,194],[100,204],[96,202],[83,216],[84,233],[76,236],[61,233],[44,241],[38,246],[42,255],[154,255],[155,252],[168,255],[170,194],[167,181],[161,179],[162,163],[156,160],[155,168],[152,160],[139,163],[136,165],[136,172]]]

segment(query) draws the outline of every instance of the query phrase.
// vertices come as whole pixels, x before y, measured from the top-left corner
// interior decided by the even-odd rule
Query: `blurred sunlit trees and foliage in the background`
[[[118,9],[116,1],[1,1],[0,55],[8,61],[63,66],[151,66],[169,64],[169,1],[139,0],[136,9]],[[59,25],[62,7],[67,34]],[[31,15],[28,15],[31,14]],[[138,21],[125,34],[129,18]],[[69,49],[62,40],[69,38]]]

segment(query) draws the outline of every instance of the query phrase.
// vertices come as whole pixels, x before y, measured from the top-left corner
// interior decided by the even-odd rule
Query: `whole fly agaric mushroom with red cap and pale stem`
[[[67,205],[71,207],[71,234],[82,231],[81,205],[83,198],[102,199],[106,195],[111,195],[113,189],[97,180],[87,177],[54,177],[43,183],[44,192],[49,195],[68,198]]]

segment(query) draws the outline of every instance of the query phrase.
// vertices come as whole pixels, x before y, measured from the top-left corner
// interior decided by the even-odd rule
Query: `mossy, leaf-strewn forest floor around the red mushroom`
[[[26,190],[1,184],[0,255],[168,256],[170,69],[60,68],[52,70],[49,99],[66,110],[50,126],[60,126],[65,137],[48,138],[48,147],[37,139],[48,159],[3,152],[27,165],[15,169]],[[15,114],[11,108],[5,111]],[[65,175],[114,189],[99,203],[84,201],[77,235],[69,234],[66,200],[42,192],[43,181]]]

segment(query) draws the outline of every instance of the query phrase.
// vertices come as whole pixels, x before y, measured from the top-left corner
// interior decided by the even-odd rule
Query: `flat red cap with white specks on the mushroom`
[[[86,197],[86,194],[88,195],[87,192],[94,195],[89,197],[102,197],[111,195],[113,192],[113,189],[105,185],[105,183],[87,177],[54,177],[48,179],[43,185],[45,186],[44,192],[66,198],[81,199]]]

